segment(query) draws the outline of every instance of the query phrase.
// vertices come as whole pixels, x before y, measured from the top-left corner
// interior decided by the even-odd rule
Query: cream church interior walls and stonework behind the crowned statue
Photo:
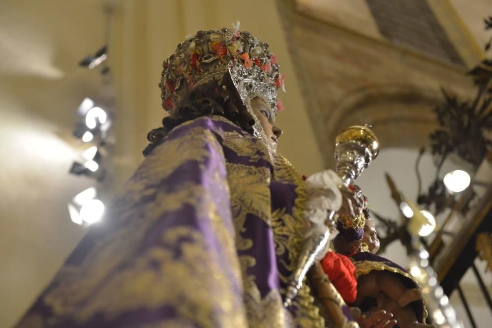
[[[87,231],[67,204],[92,187],[107,202],[143,160],[146,134],[164,116],[162,60],[187,34],[236,21],[269,42],[286,75],[279,151],[308,175],[333,167],[340,130],[371,124],[381,151],[358,183],[375,215],[388,220],[377,221],[391,242],[382,255],[409,265],[387,173],[435,214],[435,230],[423,239],[464,327],[490,327],[492,117],[471,127],[478,136],[460,135],[455,125],[464,116],[444,94],[471,104],[480,89],[474,79],[487,75],[480,67],[490,79],[484,46],[492,30],[484,19],[491,15],[491,0],[1,1],[0,327],[18,320]],[[81,65],[88,55],[102,62]],[[74,135],[85,98],[111,122],[87,142]],[[489,103],[484,113],[491,110]],[[446,111],[455,113],[454,128],[447,126],[455,150],[442,156],[435,131]],[[101,138],[94,172],[105,174],[70,174]],[[464,191],[443,190],[454,170],[471,175]]]

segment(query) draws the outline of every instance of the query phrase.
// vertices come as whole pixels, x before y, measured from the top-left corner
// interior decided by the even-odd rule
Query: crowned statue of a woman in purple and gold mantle
[[[309,283],[284,305],[317,203],[277,153],[283,84],[277,56],[239,25],[179,44],[146,159],[16,327],[326,327]],[[318,212],[360,215],[330,172]]]

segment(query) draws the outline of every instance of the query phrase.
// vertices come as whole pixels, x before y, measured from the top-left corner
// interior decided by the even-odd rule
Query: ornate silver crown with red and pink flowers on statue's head
[[[173,115],[184,95],[193,88],[229,72],[241,99],[262,98],[271,106],[272,117],[283,110],[277,89],[284,89],[277,56],[251,33],[231,29],[198,31],[178,45],[164,60],[159,83],[162,107]]]

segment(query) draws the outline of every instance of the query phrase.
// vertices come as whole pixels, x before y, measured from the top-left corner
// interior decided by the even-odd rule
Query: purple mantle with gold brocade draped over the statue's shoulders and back
[[[304,198],[292,166],[227,119],[181,124],[17,327],[324,327],[307,286],[282,305]]]

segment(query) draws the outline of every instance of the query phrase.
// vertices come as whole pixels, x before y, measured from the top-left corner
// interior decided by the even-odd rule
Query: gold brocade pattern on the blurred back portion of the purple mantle
[[[205,165],[212,150],[223,158],[222,147],[210,130],[194,127],[190,131],[176,140],[167,140],[144,161],[116,200],[123,206],[117,207],[114,220],[106,223],[117,226],[91,246],[80,264],[65,265],[57,274],[43,299],[53,313],[48,322],[31,314],[18,327],[51,326],[64,317],[84,324],[96,314],[111,320],[126,311],[155,311],[162,306],[173,306],[182,318],[171,319],[169,325],[162,322],[166,327],[186,327],[180,326],[186,321],[193,327],[247,327],[243,300],[233,293],[234,284],[240,286],[241,279],[234,233],[231,224],[223,222],[217,212],[216,197],[211,197],[216,189],[227,187],[207,190],[191,181],[183,181],[174,190],[159,186],[159,181],[188,161],[198,167]],[[173,160],[167,160],[169,154],[173,154]],[[201,174],[216,184],[220,181],[220,166],[225,173],[222,161],[209,170],[202,169]],[[194,209],[198,220],[208,219],[203,224],[210,225],[221,245],[220,252],[211,251],[196,228],[178,225],[163,230],[160,237],[154,237],[157,242],[135,253],[156,222],[186,205]],[[176,279],[169,279],[169,272]]]

